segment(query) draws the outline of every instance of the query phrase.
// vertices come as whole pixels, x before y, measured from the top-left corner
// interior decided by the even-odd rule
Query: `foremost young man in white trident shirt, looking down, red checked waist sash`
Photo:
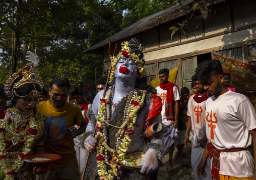
[[[204,89],[213,95],[206,101],[206,135],[209,143],[198,165],[198,175],[207,176],[207,158],[212,158],[212,179],[256,179],[256,113],[249,99],[223,84],[220,61],[207,60],[196,69]],[[246,148],[253,139],[254,159]]]

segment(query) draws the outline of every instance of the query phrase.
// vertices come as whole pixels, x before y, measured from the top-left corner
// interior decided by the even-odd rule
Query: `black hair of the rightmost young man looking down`
[[[201,83],[209,81],[212,76],[223,75],[223,69],[220,61],[212,59],[200,63],[196,69],[196,75]]]

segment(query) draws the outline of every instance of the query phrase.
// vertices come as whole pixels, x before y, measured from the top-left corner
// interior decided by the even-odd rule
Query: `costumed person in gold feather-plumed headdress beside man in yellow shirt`
[[[43,82],[35,67],[39,60],[27,51],[29,63],[9,77],[5,92],[5,118],[0,119],[0,179],[33,179],[31,164],[23,159],[33,153],[43,153],[43,130],[46,116],[35,111]],[[46,171],[34,168],[35,171]],[[39,172],[40,173],[40,172]]]

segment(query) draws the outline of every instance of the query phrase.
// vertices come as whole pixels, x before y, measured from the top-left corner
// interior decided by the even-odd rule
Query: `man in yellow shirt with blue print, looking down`
[[[85,132],[87,123],[80,108],[66,102],[70,83],[66,78],[54,78],[50,82],[50,100],[40,102],[37,111],[47,116],[45,122],[45,153],[61,155],[61,159],[49,164],[46,174],[39,180],[80,179],[74,137]],[[79,129],[75,124],[80,126]]]

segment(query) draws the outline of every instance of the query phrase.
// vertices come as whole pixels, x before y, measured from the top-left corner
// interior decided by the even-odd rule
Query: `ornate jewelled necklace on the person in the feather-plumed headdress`
[[[33,116],[33,110],[31,112],[21,112],[14,106],[6,110],[6,119],[11,119],[11,125],[17,129],[26,123]]]

